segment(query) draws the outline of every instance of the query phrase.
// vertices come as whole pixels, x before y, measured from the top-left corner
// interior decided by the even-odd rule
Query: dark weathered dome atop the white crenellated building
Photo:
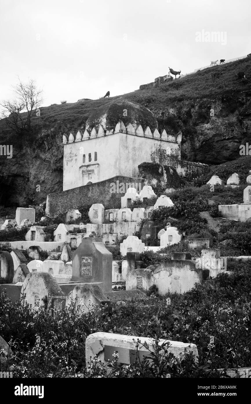
[[[141,125],[143,129],[147,126],[152,131],[158,129],[157,119],[148,108],[122,97],[95,109],[87,119],[86,129],[91,131],[94,126],[99,128],[103,125],[106,130],[112,130],[119,120],[125,126],[131,123],[135,128]]]

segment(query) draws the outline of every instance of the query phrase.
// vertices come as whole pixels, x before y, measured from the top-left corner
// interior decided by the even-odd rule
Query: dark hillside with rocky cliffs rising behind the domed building
[[[245,82],[236,77],[240,71],[245,72]],[[216,79],[211,77],[212,72],[222,74]],[[0,121],[0,144],[13,146],[12,159],[0,159],[0,204],[39,204],[48,193],[61,191],[62,134],[84,130],[94,109],[118,97],[149,108],[158,119],[159,131],[181,130],[183,159],[216,165],[239,158],[239,146],[251,144],[250,78],[251,57],[207,68],[156,88],[110,99],[42,107],[41,117],[33,120],[34,130],[29,137],[17,138]],[[82,97],[85,95],[79,94]],[[210,109],[214,109],[213,118]],[[36,192],[36,185],[40,185],[40,192]]]

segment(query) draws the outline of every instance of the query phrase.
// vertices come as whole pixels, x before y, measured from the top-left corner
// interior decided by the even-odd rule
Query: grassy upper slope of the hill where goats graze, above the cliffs
[[[248,79],[251,78],[250,57],[240,61],[227,63],[226,65],[210,67],[201,72],[172,80],[171,82],[162,84],[157,88],[136,90],[133,93],[110,97],[110,99],[101,98],[97,100],[83,101],[81,103],[66,103],[62,105],[52,104],[48,107],[41,108],[41,117],[38,119],[43,128],[51,128],[56,122],[60,121],[62,124],[67,124],[77,130],[85,127],[85,122],[93,112],[93,109],[96,109],[118,97],[138,102],[148,107],[156,116],[158,116],[160,111],[165,111],[167,105],[170,105],[172,102],[176,103],[177,101],[191,101],[193,99],[203,98],[214,99],[228,91],[239,92],[250,90],[250,80],[247,80],[247,84],[243,84],[241,83],[241,80],[236,78],[236,74],[240,71],[245,72]],[[212,79],[212,72],[222,72],[220,79]],[[37,118],[35,119],[35,122],[38,122]],[[3,121],[0,121],[0,131],[1,129],[5,129]]]

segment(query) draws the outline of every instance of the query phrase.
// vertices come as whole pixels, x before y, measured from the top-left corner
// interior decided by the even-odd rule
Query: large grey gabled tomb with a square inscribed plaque
[[[97,283],[103,291],[112,290],[112,253],[102,238],[86,237],[73,252],[73,282]]]

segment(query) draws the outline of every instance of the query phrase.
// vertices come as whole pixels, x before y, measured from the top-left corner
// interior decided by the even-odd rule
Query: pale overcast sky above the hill
[[[248,53],[250,0],[0,0],[0,100],[18,76],[36,80],[47,106]]]

